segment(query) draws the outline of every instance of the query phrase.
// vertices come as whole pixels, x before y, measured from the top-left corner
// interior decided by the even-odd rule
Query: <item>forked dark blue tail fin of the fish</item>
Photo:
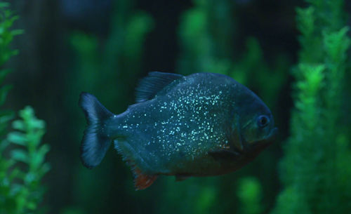
[[[112,140],[104,131],[104,126],[105,121],[114,114],[90,93],[81,93],[79,106],[83,109],[88,121],[81,141],[81,161],[87,168],[93,168],[99,165],[110,147]]]

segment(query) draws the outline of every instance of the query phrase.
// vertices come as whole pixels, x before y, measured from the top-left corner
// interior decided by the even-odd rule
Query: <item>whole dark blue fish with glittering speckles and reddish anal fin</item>
[[[98,166],[113,143],[134,175],[135,189],[159,175],[176,180],[223,175],[252,161],[277,134],[270,109],[230,76],[150,72],[135,104],[112,114],[94,95],[81,93],[87,120],[81,161]]]

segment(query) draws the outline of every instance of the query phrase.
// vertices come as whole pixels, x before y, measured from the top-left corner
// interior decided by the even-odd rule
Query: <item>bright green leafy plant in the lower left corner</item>
[[[1,142],[0,213],[32,213],[44,194],[41,179],[50,169],[45,161],[49,146],[41,144],[45,123],[34,116],[32,107],[19,112],[13,121],[15,131]],[[4,149],[10,148],[10,158]],[[24,163],[24,165],[23,165]]]

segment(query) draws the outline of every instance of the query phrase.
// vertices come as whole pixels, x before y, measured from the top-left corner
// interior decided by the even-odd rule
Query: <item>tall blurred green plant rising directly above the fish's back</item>
[[[178,72],[225,74],[234,57],[234,2],[195,0],[180,19]]]

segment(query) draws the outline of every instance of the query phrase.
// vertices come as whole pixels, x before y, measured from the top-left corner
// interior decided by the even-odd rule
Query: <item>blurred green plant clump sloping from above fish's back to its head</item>
[[[232,76],[240,83],[260,89],[260,97],[270,106],[277,102],[277,91],[286,83],[290,62],[279,54],[272,65],[265,62],[258,40],[249,36],[246,50],[236,50],[234,1],[196,0],[180,18],[180,56],[177,72],[213,72]],[[252,78],[256,76],[256,78]],[[266,87],[270,82],[270,87]],[[253,87],[251,87],[253,86]]]

